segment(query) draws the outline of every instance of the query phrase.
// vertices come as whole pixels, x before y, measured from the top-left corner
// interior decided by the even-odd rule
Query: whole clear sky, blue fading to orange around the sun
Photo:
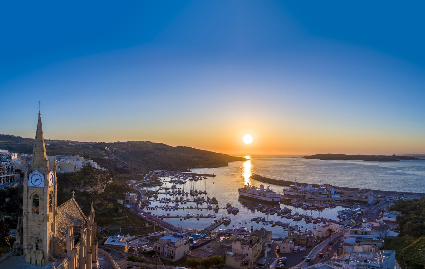
[[[0,132],[424,153],[420,3],[2,2]],[[7,105],[6,105],[7,104]],[[240,143],[252,133],[250,147]]]

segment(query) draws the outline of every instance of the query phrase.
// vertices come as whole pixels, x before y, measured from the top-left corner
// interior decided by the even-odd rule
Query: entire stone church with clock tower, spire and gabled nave
[[[55,162],[54,162],[55,163]],[[88,217],[74,197],[57,206],[56,166],[49,167],[40,112],[31,168],[25,168],[23,216],[18,219],[16,247],[26,263],[60,269],[97,268],[94,205]],[[54,268],[52,267],[52,268]]]

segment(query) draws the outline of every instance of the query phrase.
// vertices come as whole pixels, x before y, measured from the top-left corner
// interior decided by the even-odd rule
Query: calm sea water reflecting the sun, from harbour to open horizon
[[[314,160],[303,158],[292,158],[293,155],[273,155],[273,156],[245,156],[249,161],[233,161],[228,166],[218,168],[194,168],[190,169],[196,173],[214,174],[215,177],[208,177],[207,179],[198,181],[187,181],[185,184],[178,184],[178,188],[185,191],[190,189],[197,189],[207,191],[207,194],[202,194],[205,198],[215,197],[219,202],[220,208],[225,208],[226,203],[230,202],[232,206],[239,208],[237,214],[228,214],[227,210],[220,210],[214,213],[213,210],[207,211],[203,209],[185,210],[179,209],[178,211],[152,211],[152,214],[166,214],[170,213],[171,216],[186,216],[187,213],[194,214],[215,214],[217,219],[221,216],[232,216],[232,222],[228,226],[221,225],[218,228],[233,228],[245,225],[246,228],[260,229],[263,227],[262,223],[256,224],[251,222],[251,219],[261,216],[269,220],[280,220],[281,222],[291,225],[298,224],[303,227],[302,230],[312,229],[313,224],[306,224],[304,219],[299,222],[294,222],[291,219],[281,218],[280,216],[269,216],[261,211],[249,210],[249,206],[258,206],[259,204],[268,205],[261,201],[249,200],[238,195],[238,188],[244,184],[250,183],[255,186],[266,183],[252,180],[249,176],[259,174],[263,177],[269,177],[281,180],[297,180],[303,183],[322,183],[331,184],[334,186],[352,187],[359,189],[375,189],[387,191],[408,191],[425,193],[425,160],[402,160],[398,162],[377,162],[377,161],[329,161],[329,160]],[[163,186],[171,186],[173,183],[167,183],[170,178],[162,178],[164,180]],[[282,188],[286,186],[277,186],[270,184],[278,194],[282,193]],[[150,189],[158,189],[152,187]],[[170,197],[170,195],[159,194],[159,199],[162,197]],[[191,196],[189,196],[191,197]],[[174,197],[172,197],[174,198]],[[164,205],[158,201],[152,201],[151,206]],[[171,204],[170,204],[171,205]],[[180,205],[183,207],[183,205]],[[193,206],[199,208],[206,208],[207,203],[204,205],[197,205],[194,202],[189,202],[185,206]],[[322,211],[319,210],[304,210],[302,208],[294,208],[292,206],[284,205],[283,203],[277,204],[278,208],[288,207],[292,209],[292,214],[298,212],[313,217],[326,217],[337,219],[337,211],[343,207],[337,206],[335,208],[326,208]],[[182,228],[190,228],[195,230],[202,230],[213,222],[213,219],[199,219],[191,218],[180,221],[179,219],[164,218],[164,221],[170,222],[173,225]],[[233,226],[234,225],[234,226]],[[274,237],[287,236],[288,231],[276,225],[266,226],[266,230],[271,230]]]

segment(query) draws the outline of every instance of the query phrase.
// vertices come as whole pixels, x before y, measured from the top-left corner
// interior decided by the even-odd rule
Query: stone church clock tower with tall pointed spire
[[[32,153],[31,169],[25,167],[23,181],[23,250],[24,261],[46,265],[53,254],[56,232],[56,165],[49,168],[44,144],[40,111]]]

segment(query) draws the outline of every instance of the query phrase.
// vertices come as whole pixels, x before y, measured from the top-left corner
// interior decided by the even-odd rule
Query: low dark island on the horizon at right
[[[293,157],[303,159],[316,159],[316,160],[355,160],[355,161],[400,161],[400,160],[423,160],[412,156],[399,156],[399,155],[346,155],[346,154],[315,154],[311,156]]]

